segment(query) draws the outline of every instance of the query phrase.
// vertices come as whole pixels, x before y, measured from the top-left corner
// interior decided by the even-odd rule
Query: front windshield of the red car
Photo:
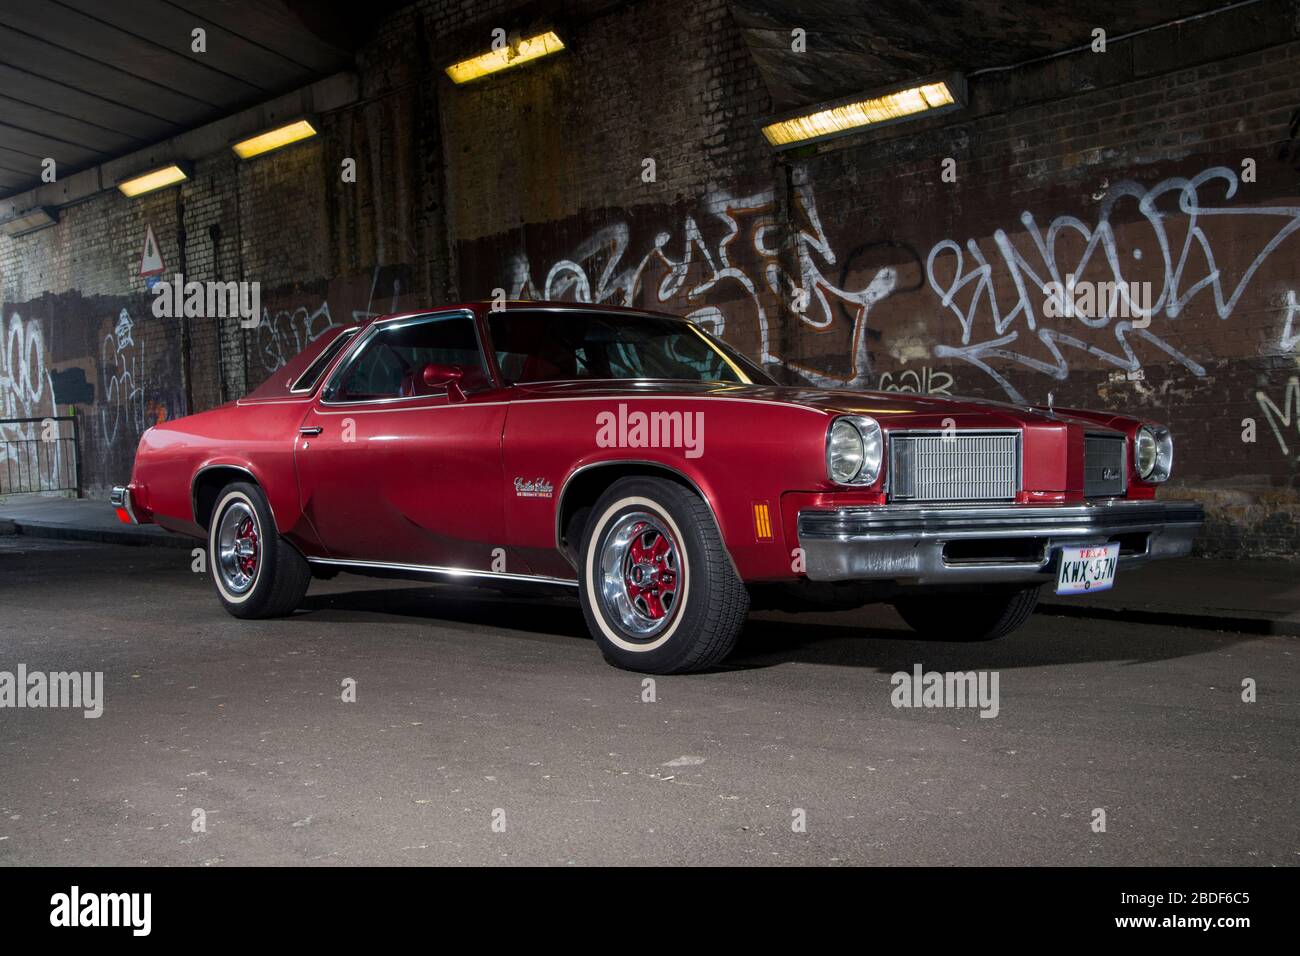
[[[620,312],[493,312],[502,375],[512,382],[668,378],[774,384],[758,365],[685,319]]]

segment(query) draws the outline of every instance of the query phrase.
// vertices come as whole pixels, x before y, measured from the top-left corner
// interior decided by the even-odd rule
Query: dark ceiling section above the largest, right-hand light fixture
[[[1228,0],[733,0],[777,111],[945,70],[1009,66]],[[807,31],[807,52],[790,31]]]

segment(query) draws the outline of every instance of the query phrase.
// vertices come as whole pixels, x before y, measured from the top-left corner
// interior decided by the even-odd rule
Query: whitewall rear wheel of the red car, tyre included
[[[208,566],[217,597],[237,618],[291,614],[312,580],[307,559],[276,531],[266,497],[247,481],[226,485],[217,496]]]

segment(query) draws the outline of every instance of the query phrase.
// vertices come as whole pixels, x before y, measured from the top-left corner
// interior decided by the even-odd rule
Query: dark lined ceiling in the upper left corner
[[[0,198],[47,156],[62,178],[347,69],[395,5],[0,0]]]

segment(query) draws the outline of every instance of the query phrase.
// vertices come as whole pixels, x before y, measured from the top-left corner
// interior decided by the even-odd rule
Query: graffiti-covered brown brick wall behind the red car
[[[1167,421],[1202,546],[1297,553],[1294,3],[972,75],[961,112],[781,155],[724,0],[597,5],[562,56],[442,75],[529,14],[412,4],[317,139],[0,238],[0,412],[48,414],[40,381],[79,399],[101,493],[148,423],[240,394],[330,324],[497,289],[590,298],[690,313],[789,381]],[[261,282],[263,325],[155,319],[146,228],[187,278]],[[1071,273],[1147,284],[1149,325],[1048,315],[1043,284]]]

